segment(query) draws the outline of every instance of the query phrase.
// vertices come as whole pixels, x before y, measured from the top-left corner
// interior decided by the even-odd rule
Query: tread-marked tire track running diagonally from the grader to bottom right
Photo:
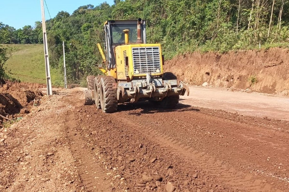
[[[204,154],[193,148],[185,150],[185,145],[180,144],[176,138],[171,138],[166,133],[159,133],[155,128],[148,126],[138,121],[131,121],[131,117],[126,115],[115,115],[115,118],[121,120],[136,131],[141,130],[146,137],[151,138],[161,146],[180,155],[191,164],[198,164],[200,169],[208,171],[210,174],[218,176],[219,180],[224,184],[231,186],[234,189],[254,192],[282,192],[279,189],[274,189],[269,184],[262,184],[262,178],[237,171],[230,165],[223,165],[222,162]]]

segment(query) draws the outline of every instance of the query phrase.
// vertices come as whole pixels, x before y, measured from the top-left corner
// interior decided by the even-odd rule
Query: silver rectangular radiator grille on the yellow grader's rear
[[[160,72],[160,47],[133,47],[134,74]]]

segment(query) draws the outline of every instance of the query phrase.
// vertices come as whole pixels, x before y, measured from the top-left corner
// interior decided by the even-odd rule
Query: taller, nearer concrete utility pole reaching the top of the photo
[[[51,77],[50,77],[50,66],[48,57],[48,45],[47,45],[47,34],[46,34],[46,24],[45,24],[45,13],[43,0],[41,2],[41,15],[42,15],[42,32],[43,32],[43,45],[44,45],[44,57],[45,57],[45,72],[46,72],[46,85],[47,85],[47,95],[52,95]]]

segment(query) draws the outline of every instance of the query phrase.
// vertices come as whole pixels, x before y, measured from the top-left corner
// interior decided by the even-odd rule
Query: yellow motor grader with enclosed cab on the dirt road
[[[85,104],[106,113],[117,111],[118,103],[147,99],[164,108],[175,108],[179,95],[189,89],[170,72],[163,72],[161,45],[147,44],[145,20],[107,20],[103,44],[98,43],[104,75],[88,76]],[[105,67],[104,67],[105,66]]]

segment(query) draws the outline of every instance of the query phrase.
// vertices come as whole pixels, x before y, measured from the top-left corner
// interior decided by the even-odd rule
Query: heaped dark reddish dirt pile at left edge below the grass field
[[[0,87],[0,115],[12,119],[18,116],[18,113],[29,113],[32,101],[42,96],[42,92],[33,85],[7,82]]]

